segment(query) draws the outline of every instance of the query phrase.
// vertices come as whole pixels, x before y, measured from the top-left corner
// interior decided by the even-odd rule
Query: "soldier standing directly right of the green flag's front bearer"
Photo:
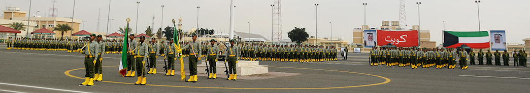
[[[158,43],[156,43],[156,38],[151,38],[151,42],[149,42],[149,72],[147,74],[156,74],[156,58],[158,58],[158,50],[160,47],[158,47]]]

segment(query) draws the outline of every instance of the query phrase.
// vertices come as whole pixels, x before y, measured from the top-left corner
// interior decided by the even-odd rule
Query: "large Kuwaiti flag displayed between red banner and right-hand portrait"
[[[462,44],[473,49],[490,48],[488,31],[444,31],[444,48],[456,48]]]

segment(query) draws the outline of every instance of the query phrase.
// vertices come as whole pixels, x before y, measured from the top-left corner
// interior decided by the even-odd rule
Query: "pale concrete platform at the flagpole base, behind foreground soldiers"
[[[200,63],[201,64],[197,64],[197,72],[206,73],[205,61],[201,60]],[[208,64],[208,66],[210,66],[210,64]],[[216,68],[217,73],[224,73],[226,70],[224,61],[217,61]],[[238,63],[236,63],[236,70],[237,76],[262,75],[269,73],[269,66],[259,65],[259,61],[239,60]]]

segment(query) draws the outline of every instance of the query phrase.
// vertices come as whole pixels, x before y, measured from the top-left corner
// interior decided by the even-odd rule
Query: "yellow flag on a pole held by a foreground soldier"
[[[175,46],[175,49],[176,50],[180,50],[180,41],[179,41],[179,31],[176,30],[176,25],[175,25],[175,19],[173,19],[173,44]],[[179,52],[179,51],[175,51],[175,52]],[[182,52],[182,51],[180,51]],[[180,81],[183,81],[184,79],[186,79],[186,75],[184,73],[184,60],[182,60],[182,55],[180,55],[180,53],[175,53],[179,58],[179,61],[180,61]]]

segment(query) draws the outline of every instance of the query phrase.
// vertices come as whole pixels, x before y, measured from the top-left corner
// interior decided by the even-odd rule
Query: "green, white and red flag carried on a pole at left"
[[[127,74],[127,47],[128,46],[128,34],[129,33],[129,21],[130,19],[127,18],[127,26],[125,28],[125,38],[123,38],[123,48],[121,49],[121,59],[120,59],[120,67],[118,69],[118,73],[120,73],[121,77],[125,77],[125,74]]]

